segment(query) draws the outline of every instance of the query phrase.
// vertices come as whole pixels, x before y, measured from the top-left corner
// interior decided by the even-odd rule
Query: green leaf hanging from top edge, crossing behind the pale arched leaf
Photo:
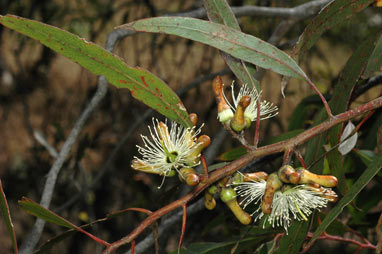
[[[207,16],[210,21],[240,31],[239,23],[237,22],[231,7],[225,0],[204,0],[204,8],[207,11]],[[236,77],[238,77],[243,84],[248,84],[250,87],[256,88],[259,91],[259,82],[254,78],[256,72],[255,67],[240,59],[234,58],[227,53],[221,53],[225,62]]]

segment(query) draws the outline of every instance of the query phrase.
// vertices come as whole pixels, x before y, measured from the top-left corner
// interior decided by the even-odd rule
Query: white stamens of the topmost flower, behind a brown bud
[[[245,84],[240,88],[240,91],[237,97],[235,97],[234,83],[232,83],[231,89],[232,89],[232,100],[234,104],[234,105],[230,104],[231,109],[235,111],[241,97],[243,97],[244,95],[248,95],[249,97],[251,97],[251,103],[245,109],[244,116],[248,118],[251,122],[256,121],[257,101],[260,99],[261,92],[258,93],[256,89],[251,89],[247,86],[247,84]],[[226,99],[226,101],[228,100]],[[278,110],[278,107],[274,106],[273,103],[271,102],[267,102],[267,101],[260,102],[260,120],[264,120],[264,119],[268,119],[268,118],[276,116],[278,114],[277,110]]]

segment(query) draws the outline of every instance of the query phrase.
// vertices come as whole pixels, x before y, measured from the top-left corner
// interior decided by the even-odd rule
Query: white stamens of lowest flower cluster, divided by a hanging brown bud
[[[243,182],[236,185],[237,195],[242,197],[240,204],[244,204],[243,208],[250,203],[258,204],[261,202],[265,192],[266,182]],[[272,212],[264,221],[268,222],[272,227],[284,227],[288,234],[288,227],[293,219],[308,220],[307,217],[315,209],[326,207],[327,203],[337,195],[328,188],[315,188],[310,185],[284,185],[282,190],[275,192],[272,202]],[[264,213],[259,206],[251,215],[257,214],[255,221],[261,219]]]

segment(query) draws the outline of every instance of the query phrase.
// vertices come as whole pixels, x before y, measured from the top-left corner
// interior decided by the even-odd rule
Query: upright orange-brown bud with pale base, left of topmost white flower
[[[223,81],[220,76],[216,76],[212,81],[216,103],[218,104],[218,118],[224,123],[232,119],[233,112],[223,95]]]

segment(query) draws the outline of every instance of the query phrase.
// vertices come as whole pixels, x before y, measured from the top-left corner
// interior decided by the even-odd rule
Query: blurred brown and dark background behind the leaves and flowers
[[[309,1],[301,0],[233,0],[231,6],[258,5],[294,7]],[[201,8],[196,0],[1,0],[1,14],[15,14],[57,26],[104,47],[107,35],[115,26],[137,19],[183,13]],[[283,19],[245,16],[239,18],[242,30],[268,40]],[[311,19],[297,22],[276,46],[291,52],[292,46]],[[353,50],[382,24],[381,11],[367,9],[342,26],[325,33],[301,63],[308,76],[323,93],[330,93]],[[67,58],[43,47],[36,41],[0,26],[0,177],[10,205],[17,239],[23,242],[35,218],[22,211],[17,201],[29,197],[40,201],[56,151],[59,151],[80,112],[86,107],[97,86],[97,77]],[[214,139],[224,135],[216,119],[216,103],[211,79],[219,73],[225,84],[235,77],[228,71],[219,52],[211,47],[175,36],[136,34],[119,41],[114,53],[131,66],[149,70],[163,79],[181,98],[188,112],[204,123],[203,134]],[[293,109],[302,99],[313,94],[310,87],[291,80],[280,93],[281,77],[265,72],[261,79],[263,99],[280,108],[277,117],[262,122],[261,142],[267,143],[294,128],[306,128],[321,108],[313,100],[303,124],[289,126]],[[239,82],[238,82],[239,83]],[[354,106],[375,98],[375,87],[358,97]],[[227,89],[229,94],[229,89]],[[229,96],[230,97],[230,96]],[[140,134],[147,135],[151,118],[164,118],[134,100],[128,90],[109,86],[106,98],[87,121],[69,158],[66,160],[55,188],[51,209],[76,225],[128,207],[156,210],[187,193],[177,179],[168,179],[158,189],[162,177],[133,171],[130,161],[142,145]],[[142,118],[145,116],[145,118]],[[142,124],[135,124],[142,121]],[[253,131],[248,131],[252,137]],[[51,151],[41,140],[50,144]],[[122,142],[121,142],[122,141]],[[213,158],[239,143],[229,136],[220,138]],[[282,156],[261,162],[262,170],[272,170]],[[212,164],[211,163],[211,164]],[[97,175],[102,171],[102,177]],[[89,190],[78,195],[84,188]],[[78,197],[68,202],[72,197]],[[109,241],[128,234],[146,216],[129,212],[92,227],[92,232]],[[197,218],[196,220],[193,218]],[[160,253],[176,249],[181,224],[170,227],[160,236]],[[40,244],[64,232],[47,224]],[[196,241],[221,241],[242,232],[222,204],[214,211],[200,210],[189,217],[185,245]],[[138,242],[150,232],[145,232]],[[11,252],[11,242],[0,220],[0,246]],[[76,234],[58,245],[52,253],[96,253],[102,250],[95,242]],[[126,250],[126,249],[125,249]],[[2,252],[7,253],[7,252]],[[121,252],[122,253],[122,252]],[[153,248],[147,253],[154,253]]]

